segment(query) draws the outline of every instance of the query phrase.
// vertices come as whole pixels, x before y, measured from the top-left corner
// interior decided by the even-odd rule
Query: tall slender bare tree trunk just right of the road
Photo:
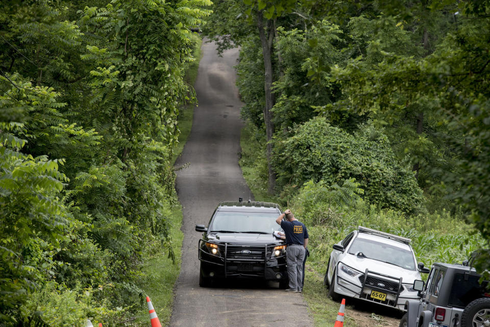
[[[265,20],[262,16],[262,11],[257,12],[257,28],[259,30],[260,42],[262,44],[262,55],[264,57],[264,91],[265,91],[265,108],[264,113],[264,123],[265,123],[265,134],[267,138],[267,170],[268,170],[268,181],[267,181],[267,192],[272,194],[274,192],[274,186],[276,185],[276,174],[272,169],[271,159],[272,159],[272,136],[274,134],[274,124],[272,122],[272,107],[274,107],[275,98],[272,92],[273,83],[273,68],[272,68],[272,44],[274,41],[274,28],[272,26],[272,21],[269,19]]]

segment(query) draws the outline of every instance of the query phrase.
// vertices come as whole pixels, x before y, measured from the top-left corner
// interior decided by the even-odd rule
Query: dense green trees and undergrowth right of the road
[[[452,224],[464,251],[456,255],[456,247],[450,247],[453,254],[438,260],[460,260],[469,249],[489,246],[488,1],[302,1],[273,15],[283,2],[247,1],[226,13],[227,1],[214,3],[207,33],[228,29],[222,45],[232,40],[241,46],[242,115],[259,134],[269,119],[274,127],[272,138],[256,137],[272,146],[272,155],[254,155],[259,160],[253,163],[251,157],[242,160],[256,171],[253,183],[259,189],[264,189],[265,165],[272,164],[277,180],[269,196],[296,203],[304,212],[303,192],[310,183],[328,193],[349,180],[357,183],[361,192],[356,194],[369,208],[358,213],[374,217],[360,220],[363,224],[377,227],[375,217],[390,213],[393,224],[404,222],[405,229],[379,226],[403,235],[440,232],[424,229],[434,220],[465,221],[479,230],[482,238]],[[272,25],[264,23],[256,31],[260,11]],[[250,33],[240,33],[242,25]],[[272,118],[263,111],[263,84],[271,73],[260,28],[274,35]],[[324,198],[313,203],[327,212],[339,207]],[[448,242],[431,244],[444,248]],[[488,253],[480,256],[478,267],[490,268]]]

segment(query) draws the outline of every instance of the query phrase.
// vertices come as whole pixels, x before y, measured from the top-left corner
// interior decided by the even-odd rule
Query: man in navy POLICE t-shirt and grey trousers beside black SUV
[[[286,220],[283,220],[284,217]],[[305,224],[296,219],[289,209],[277,217],[276,222],[281,225],[286,235],[286,263],[289,277],[289,288],[286,292],[301,293],[303,291],[303,261],[308,245],[308,231]]]

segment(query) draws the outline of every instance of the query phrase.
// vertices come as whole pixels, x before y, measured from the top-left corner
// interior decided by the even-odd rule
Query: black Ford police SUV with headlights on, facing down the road
[[[241,198],[219,203],[208,227],[195,225],[196,231],[203,232],[198,250],[199,285],[246,277],[277,281],[286,288],[286,244],[277,236],[283,231],[276,223],[279,215],[276,203],[243,202]]]

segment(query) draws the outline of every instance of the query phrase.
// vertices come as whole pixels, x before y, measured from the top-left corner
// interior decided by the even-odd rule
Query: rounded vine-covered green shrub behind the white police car
[[[274,144],[278,186],[307,180],[333,185],[355,178],[369,203],[405,213],[421,207],[422,190],[413,172],[397,160],[387,137],[371,124],[349,134],[317,117],[285,140],[276,137]]]

